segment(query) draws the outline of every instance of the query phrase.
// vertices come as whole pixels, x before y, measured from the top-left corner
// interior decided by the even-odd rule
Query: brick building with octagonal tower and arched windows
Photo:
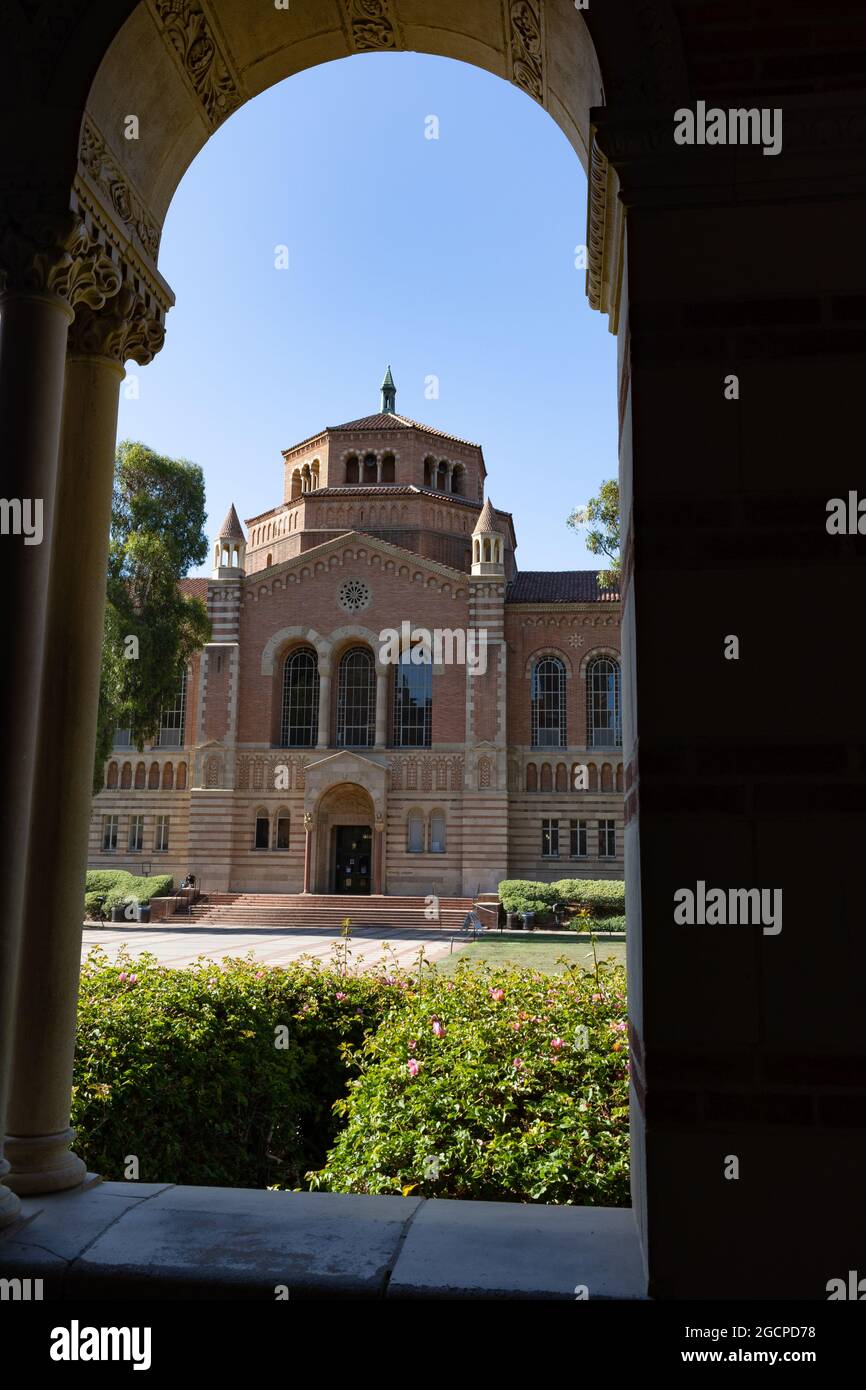
[[[209,645],[118,730],[89,862],[206,891],[471,895],[623,877],[620,602],[518,571],[478,445],[381,410],[284,452],[214,539]]]

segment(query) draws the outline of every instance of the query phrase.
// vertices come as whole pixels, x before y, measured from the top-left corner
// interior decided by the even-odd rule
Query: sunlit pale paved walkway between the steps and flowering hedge
[[[424,931],[414,927],[356,927],[349,938],[352,960],[374,965],[384,954],[384,944],[389,947],[388,955],[393,962],[395,956],[400,965],[410,966],[418,959],[418,951],[424,947],[427,960],[439,960],[450,952],[450,934],[439,929]],[[163,965],[190,965],[199,956],[211,960],[221,960],[222,956],[245,956],[253,952],[256,960],[265,965],[286,965],[297,960],[299,956],[318,956],[320,960],[331,960],[334,944],[341,942],[339,931],[310,930],[286,931],[268,927],[165,927],[160,923],[153,926],[138,926],[124,923],[122,926],[106,924],[104,927],[85,927],[82,935],[82,960],[90,947],[101,947],[110,959],[114,959],[121,947],[126,947],[131,955],[140,955],[149,951]],[[460,938],[455,941],[455,951],[463,944]]]

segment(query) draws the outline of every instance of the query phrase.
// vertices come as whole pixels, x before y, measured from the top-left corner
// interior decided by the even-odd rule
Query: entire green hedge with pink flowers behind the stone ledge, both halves
[[[346,948],[348,951],[348,948]],[[142,1182],[623,1205],[626,977],[153,956],[81,977],[89,1169]]]

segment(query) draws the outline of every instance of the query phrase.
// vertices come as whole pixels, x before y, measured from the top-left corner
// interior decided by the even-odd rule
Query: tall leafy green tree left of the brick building
[[[95,791],[103,785],[114,730],[129,728],[139,751],[154,739],[186,663],[210,641],[204,603],[179,585],[207,556],[204,517],[204,477],[197,464],[165,459],[128,439],[118,445]]]

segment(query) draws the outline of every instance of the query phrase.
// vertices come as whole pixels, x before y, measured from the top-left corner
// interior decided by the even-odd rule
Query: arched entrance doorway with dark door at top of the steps
[[[316,830],[314,892],[366,895],[375,888],[375,812],[373,796],[357,783],[338,783],[322,792],[313,813]]]

